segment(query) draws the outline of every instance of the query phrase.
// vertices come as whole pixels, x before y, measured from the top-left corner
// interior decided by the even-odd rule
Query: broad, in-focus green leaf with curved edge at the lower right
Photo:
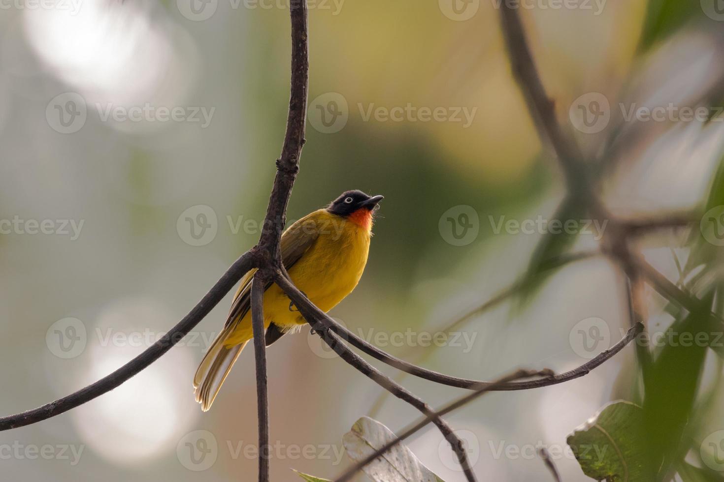
[[[606,405],[566,442],[584,473],[597,481],[651,482],[644,467],[643,413],[631,402]]]

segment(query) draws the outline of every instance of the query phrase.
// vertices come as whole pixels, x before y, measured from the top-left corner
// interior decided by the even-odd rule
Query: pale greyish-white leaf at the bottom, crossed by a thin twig
[[[362,417],[342,437],[348,457],[355,462],[372,455],[377,449],[395,439],[395,434],[376,420]],[[377,457],[362,469],[375,482],[445,482],[432,473],[403,444]]]

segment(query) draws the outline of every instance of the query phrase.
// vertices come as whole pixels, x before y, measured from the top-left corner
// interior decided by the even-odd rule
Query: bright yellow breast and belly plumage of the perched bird
[[[370,233],[355,223],[345,223],[336,233],[319,236],[315,244],[288,272],[292,282],[324,312],[337,306],[357,286],[369,252]],[[272,284],[264,293],[264,327],[271,322],[284,329],[306,324],[291,307],[282,288]],[[224,345],[238,345],[253,337],[251,311],[245,314]]]

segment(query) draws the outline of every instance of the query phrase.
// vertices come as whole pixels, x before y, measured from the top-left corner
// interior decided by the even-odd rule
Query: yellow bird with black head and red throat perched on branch
[[[282,234],[282,262],[292,282],[324,312],[337,306],[360,280],[369,252],[372,221],[382,196],[346,191],[324,209],[292,224]],[[253,338],[251,327],[251,280],[256,270],[241,280],[224,330],[203,357],[193,377],[196,401],[206,411]],[[264,292],[266,346],[279,340],[306,320],[278,285]]]

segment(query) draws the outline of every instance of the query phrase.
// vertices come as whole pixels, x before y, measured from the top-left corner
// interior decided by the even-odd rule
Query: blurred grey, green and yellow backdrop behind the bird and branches
[[[560,121],[593,158],[616,147],[599,170],[616,215],[703,212],[724,152],[717,1],[521,4]],[[450,327],[526,272],[565,195],[511,75],[499,7],[311,1],[307,143],[288,212],[296,220],[347,189],[384,194],[365,275],[331,314],[390,353],[475,379],[572,369],[628,327],[623,278],[604,257]],[[256,243],[285,129],[289,32],[287,0],[0,0],[0,415],[129,361]],[[670,104],[662,120],[632,114]],[[687,107],[707,111],[686,120]],[[585,218],[573,251],[596,249],[605,230]],[[677,280],[688,240],[665,231],[637,247]],[[665,303],[647,302],[649,330],[665,330]],[[193,400],[230,303],[117,390],[0,433],[1,478],[255,480],[253,350],[211,411]],[[576,334],[592,327],[589,345]],[[268,357],[275,481],[341,473],[342,435],[361,416],[393,431],[418,417],[306,328]],[[707,353],[707,400],[724,395],[720,374]],[[581,379],[490,394],[448,418],[483,480],[548,480],[537,447],[558,453],[564,481],[589,480],[565,438],[634,397],[635,378],[628,347]],[[433,406],[464,392],[401,380]],[[720,404],[707,407],[699,442],[724,429]],[[408,446],[464,480],[434,427]],[[687,460],[704,467],[692,446]]]

